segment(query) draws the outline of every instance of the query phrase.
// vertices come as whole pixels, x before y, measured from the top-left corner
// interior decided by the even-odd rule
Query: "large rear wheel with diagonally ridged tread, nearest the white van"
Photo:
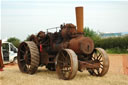
[[[21,72],[34,74],[39,65],[39,52],[36,44],[32,41],[21,43],[17,59]]]

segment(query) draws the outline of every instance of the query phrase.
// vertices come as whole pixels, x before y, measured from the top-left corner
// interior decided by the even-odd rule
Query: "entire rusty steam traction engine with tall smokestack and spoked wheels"
[[[40,31],[22,42],[18,51],[21,72],[34,74],[39,66],[57,72],[60,79],[73,79],[79,70],[93,76],[104,76],[109,69],[107,53],[94,48],[89,37],[83,35],[83,7],[76,7],[76,26],[63,24],[59,32]],[[48,31],[48,30],[47,30]]]

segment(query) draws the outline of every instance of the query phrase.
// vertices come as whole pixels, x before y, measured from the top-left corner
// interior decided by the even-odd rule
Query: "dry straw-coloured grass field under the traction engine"
[[[110,57],[110,64],[113,64],[113,57]],[[42,67],[36,74],[28,75],[21,73],[17,65],[7,66],[3,72],[0,72],[0,85],[128,85],[128,75],[115,72],[117,70],[115,68],[117,68],[116,65],[115,67],[110,65],[109,72],[103,77],[90,76],[87,71],[84,71],[77,72],[72,80],[61,80],[58,79],[56,72]]]

